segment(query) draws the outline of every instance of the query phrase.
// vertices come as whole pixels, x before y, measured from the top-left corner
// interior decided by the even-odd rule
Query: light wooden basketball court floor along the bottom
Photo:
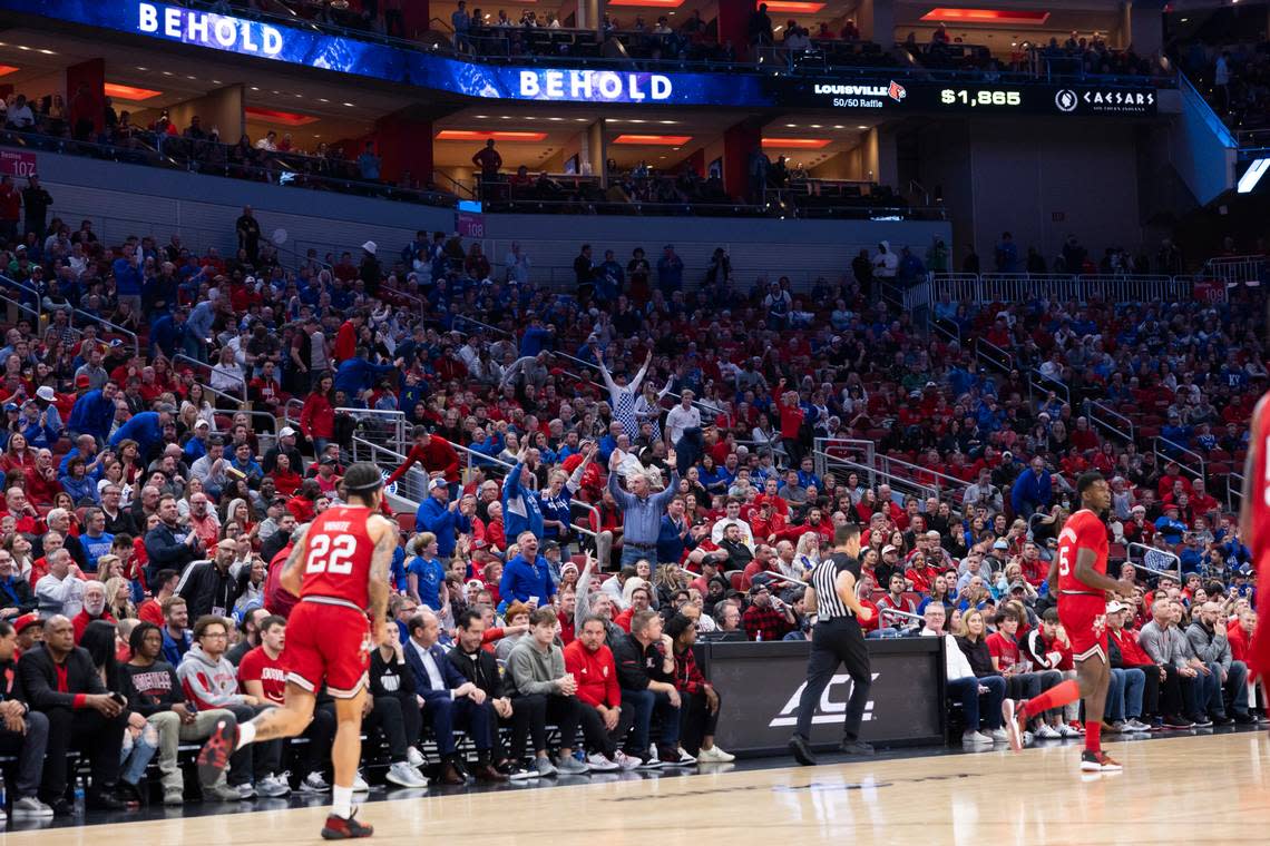
[[[395,790],[359,818],[372,843],[1140,843],[1201,831],[1242,842],[1270,828],[1265,731],[1104,741],[1124,772],[1077,771],[1080,742],[1007,752],[937,753],[691,775],[630,772],[502,785],[488,791]],[[546,786],[558,781],[555,786]],[[287,800],[274,800],[288,805]],[[312,807],[212,813],[157,808],[145,822],[17,831],[27,846],[320,842],[329,797]],[[259,808],[259,803],[257,808]],[[216,810],[224,813],[216,813]],[[168,814],[161,818],[161,814]],[[420,841],[420,838],[424,838]],[[584,840],[585,838],[585,840]]]

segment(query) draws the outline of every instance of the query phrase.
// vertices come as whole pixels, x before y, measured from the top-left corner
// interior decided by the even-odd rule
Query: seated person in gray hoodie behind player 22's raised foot
[[[229,648],[229,624],[222,616],[211,614],[194,623],[194,646],[180,660],[177,677],[185,691],[185,699],[196,710],[225,708],[234,712],[239,724],[250,722],[267,706],[255,696],[240,694],[237,670],[225,657]],[[265,798],[284,797],[291,793],[282,770],[282,748],[286,741],[257,743],[251,748],[250,766],[231,767],[230,786],[244,799],[259,794]],[[253,780],[255,785],[253,786]]]

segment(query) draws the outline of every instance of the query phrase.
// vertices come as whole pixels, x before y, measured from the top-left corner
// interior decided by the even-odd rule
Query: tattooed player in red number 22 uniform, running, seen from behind
[[[199,778],[203,784],[215,783],[235,750],[304,732],[325,684],[335,699],[338,722],[331,748],[334,807],[321,830],[325,840],[370,837],[373,832],[353,818],[353,780],[362,757],[370,651],[386,641],[389,564],[398,547],[396,524],[378,514],[384,500],[378,468],[353,464],[344,485],[349,505],[328,509],[309,524],[282,569],[282,586],[300,597],[287,620],[282,708],[236,728],[221,723],[198,755]]]

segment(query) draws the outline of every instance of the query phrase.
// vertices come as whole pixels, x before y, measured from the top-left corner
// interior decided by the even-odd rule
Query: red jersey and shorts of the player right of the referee
[[[1093,569],[1107,572],[1107,529],[1088,509],[1068,517],[1058,535],[1058,620],[1072,642],[1072,657],[1107,660],[1106,592],[1076,577],[1076,556],[1091,549]]]

